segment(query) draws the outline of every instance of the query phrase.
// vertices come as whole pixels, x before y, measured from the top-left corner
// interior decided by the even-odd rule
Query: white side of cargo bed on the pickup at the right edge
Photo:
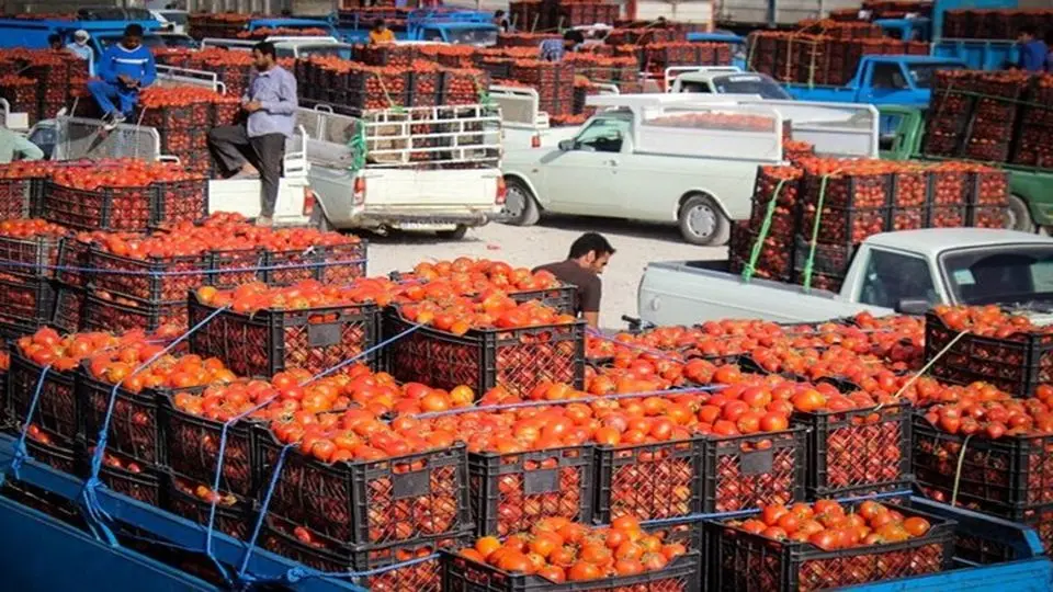
[[[752,280],[744,283],[726,262],[678,261],[647,265],[637,296],[639,317],[655,325],[692,325],[722,318],[814,322],[862,310],[891,310],[846,303],[824,291]]]

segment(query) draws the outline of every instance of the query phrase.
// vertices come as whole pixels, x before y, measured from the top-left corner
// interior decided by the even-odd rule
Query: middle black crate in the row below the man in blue
[[[145,232],[152,221],[158,187],[79,190],[48,181],[44,189],[44,216],[76,230]]]

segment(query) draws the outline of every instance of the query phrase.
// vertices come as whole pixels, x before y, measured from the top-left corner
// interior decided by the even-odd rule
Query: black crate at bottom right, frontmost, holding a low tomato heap
[[[905,540],[825,551],[809,543],[775,540],[728,524],[705,523],[709,590],[773,592],[842,588],[946,571],[951,568],[954,523],[906,506],[931,528]]]

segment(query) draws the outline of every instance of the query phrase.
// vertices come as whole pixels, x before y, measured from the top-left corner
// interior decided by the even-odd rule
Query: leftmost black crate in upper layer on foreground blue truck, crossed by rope
[[[8,398],[11,412],[20,425],[26,422],[30,405],[37,385],[41,385],[41,395],[36,401],[32,423],[50,436],[56,443],[72,446],[73,440],[80,432],[80,422],[77,415],[76,372],[47,371],[44,383],[41,374],[44,367],[24,357],[18,348],[11,348],[11,368],[8,371]]]

